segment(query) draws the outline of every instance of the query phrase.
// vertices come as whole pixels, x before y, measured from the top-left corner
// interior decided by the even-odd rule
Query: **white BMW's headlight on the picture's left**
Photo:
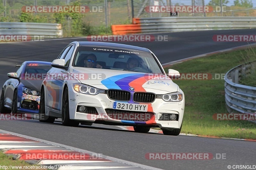
[[[74,83],[73,88],[76,92],[83,93],[83,94],[96,95],[99,93],[105,93],[105,90],[97,89],[95,87],[84,85],[82,83]]]

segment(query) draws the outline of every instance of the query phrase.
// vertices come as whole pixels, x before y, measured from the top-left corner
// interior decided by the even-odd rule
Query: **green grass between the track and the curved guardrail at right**
[[[180,73],[226,73],[231,68],[255,59],[256,48],[211,55],[168,69]],[[181,133],[216,137],[256,139],[255,123],[249,121],[220,121],[212,118],[216,113],[228,113],[225,107],[224,80],[173,80],[185,93],[185,112]]]

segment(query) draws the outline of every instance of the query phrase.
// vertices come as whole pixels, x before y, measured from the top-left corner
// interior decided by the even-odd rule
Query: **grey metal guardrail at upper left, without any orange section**
[[[62,37],[61,24],[31,22],[0,22],[1,35],[44,35]]]

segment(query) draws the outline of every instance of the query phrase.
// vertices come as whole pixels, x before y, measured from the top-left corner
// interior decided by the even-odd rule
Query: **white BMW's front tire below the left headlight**
[[[61,119],[64,126],[77,127],[79,122],[69,119],[68,87],[64,88],[62,97]]]

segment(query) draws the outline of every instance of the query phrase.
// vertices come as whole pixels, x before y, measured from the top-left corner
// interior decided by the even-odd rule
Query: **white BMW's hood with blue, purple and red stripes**
[[[76,77],[84,75],[84,78],[79,78],[81,83],[105,90],[130,91],[129,88],[133,87],[135,92],[153,92],[157,94],[179,90],[179,86],[166,75],[80,67],[70,70],[70,73]]]

